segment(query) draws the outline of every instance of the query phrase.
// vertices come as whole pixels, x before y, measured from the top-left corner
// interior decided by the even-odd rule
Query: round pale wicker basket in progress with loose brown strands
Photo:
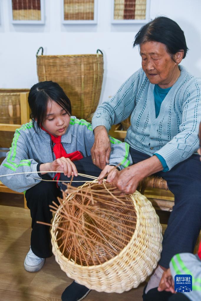
[[[162,227],[136,191],[119,197],[109,184],[69,188],[52,223],[52,252],[68,277],[99,292],[122,293],[145,281],[160,259]]]

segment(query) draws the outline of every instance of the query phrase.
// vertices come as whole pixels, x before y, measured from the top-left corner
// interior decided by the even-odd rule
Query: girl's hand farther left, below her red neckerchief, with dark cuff
[[[60,159],[56,159],[53,162],[44,163],[40,165],[40,173],[45,174],[46,172],[43,171],[55,171],[60,172],[63,171],[64,175],[67,175],[68,178],[71,175],[75,175],[77,177],[77,168],[75,164],[69,159],[61,157]]]

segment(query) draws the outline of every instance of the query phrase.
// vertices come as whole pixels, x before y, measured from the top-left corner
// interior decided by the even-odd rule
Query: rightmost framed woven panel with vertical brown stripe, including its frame
[[[112,0],[111,23],[147,23],[150,0]]]

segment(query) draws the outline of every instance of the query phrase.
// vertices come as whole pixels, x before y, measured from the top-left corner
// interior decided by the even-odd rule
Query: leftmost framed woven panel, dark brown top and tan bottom
[[[10,0],[13,24],[44,24],[44,0]]]

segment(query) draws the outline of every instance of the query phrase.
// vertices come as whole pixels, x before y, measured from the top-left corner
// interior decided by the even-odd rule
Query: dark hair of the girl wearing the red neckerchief
[[[60,85],[52,81],[38,82],[31,87],[28,96],[33,129],[35,131],[34,121],[37,120],[38,131],[40,125],[46,120],[47,105],[49,101],[55,101],[68,113],[68,115],[71,115],[71,102]]]

